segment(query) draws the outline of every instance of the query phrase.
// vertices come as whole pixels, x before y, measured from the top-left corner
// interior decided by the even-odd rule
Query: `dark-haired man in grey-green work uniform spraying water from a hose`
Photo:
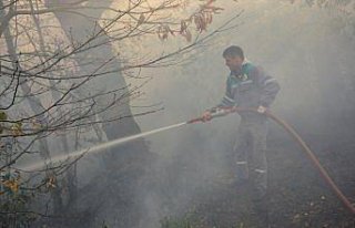
[[[273,103],[280,85],[262,69],[246,61],[240,46],[232,45],[225,49],[223,58],[231,70],[225,95],[221,104],[203,114],[203,118],[211,120],[211,113],[221,107],[252,107],[257,111],[240,112],[241,123],[234,146],[236,180],[251,184],[254,206],[258,214],[266,216],[267,117],[264,113]]]

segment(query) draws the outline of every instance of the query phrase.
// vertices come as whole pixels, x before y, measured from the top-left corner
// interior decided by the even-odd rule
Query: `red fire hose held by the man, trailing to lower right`
[[[211,118],[224,116],[231,113],[235,112],[257,112],[256,108],[248,108],[248,107],[229,107],[229,108],[219,108],[216,112],[211,113]],[[337,185],[334,183],[334,180],[331,178],[331,176],[327,174],[327,172],[324,169],[317,157],[314,155],[314,153],[311,151],[311,148],[307,146],[307,144],[302,139],[302,137],[296,133],[296,131],[291,127],[285,121],[281,120],[280,117],[275,116],[270,110],[266,110],[264,113],[268,118],[276,122],[278,125],[281,125],[291,136],[301,145],[304,153],[307,155],[307,157],[311,159],[312,164],[315,166],[315,168],[321,173],[322,178],[325,180],[325,183],[331,187],[331,189],[335,193],[337,198],[343,203],[343,205],[353,214],[355,215],[355,207],[352,205],[352,203],[346,198],[346,196],[342,193],[342,190],[337,187]],[[199,117],[189,121],[189,124],[197,123],[197,122],[204,122],[204,117]]]

